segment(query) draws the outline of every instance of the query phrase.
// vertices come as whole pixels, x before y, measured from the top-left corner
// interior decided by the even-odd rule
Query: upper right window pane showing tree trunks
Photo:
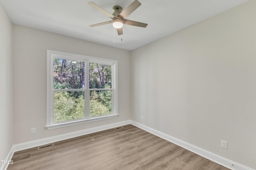
[[[112,88],[112,66],[89,63],[89,88]]]

